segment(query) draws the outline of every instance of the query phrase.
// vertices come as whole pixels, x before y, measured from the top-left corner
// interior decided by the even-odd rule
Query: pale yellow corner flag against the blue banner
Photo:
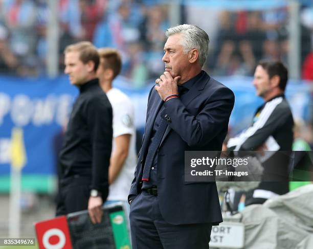
[[[11,166],[21,169],[27,162],[23,129],[14,127],[11,135]]]

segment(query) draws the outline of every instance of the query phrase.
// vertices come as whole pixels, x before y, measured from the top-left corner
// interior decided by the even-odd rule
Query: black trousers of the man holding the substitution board
[[[86,210],[91,177],[74,175],[60,180],[56,216]]]

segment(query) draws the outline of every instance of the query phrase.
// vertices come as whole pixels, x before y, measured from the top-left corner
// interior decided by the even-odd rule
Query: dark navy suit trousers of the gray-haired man
[[[211,223],[169,224],[161,215],[158,196],[146,191],[132,200],[129,219],[133,249],[209,248]]]

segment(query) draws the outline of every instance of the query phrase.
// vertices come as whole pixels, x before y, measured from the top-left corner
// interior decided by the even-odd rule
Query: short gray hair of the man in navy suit
[[[203,66],[209,53],[209,36],[208,34],[195,25],[183,24],[167,29],[165,35],[169,37],[174,34],[182,34],[181,45],[184,53],[187,54],[192,49],[199,51],[199,62]]]

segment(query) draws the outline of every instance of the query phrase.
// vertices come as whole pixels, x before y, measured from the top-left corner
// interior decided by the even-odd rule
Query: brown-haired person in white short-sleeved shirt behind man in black
[[[131,100],[113,81],[121,71],[121,56],[116,49],[98,50],[100,65],[97,76],[113,108],[113,147],[109,166],[109,195],[106,204],[123,201],[129,213],[127,196],[137,164],[136,129]]]

